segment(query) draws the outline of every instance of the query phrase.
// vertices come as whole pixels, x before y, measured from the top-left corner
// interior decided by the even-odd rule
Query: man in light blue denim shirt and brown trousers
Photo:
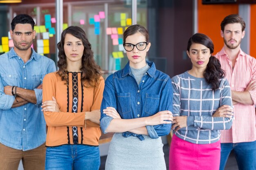
[[[0,56],[1,170],[45,169],[46,124],[41,111],[45,74],[56,71],[54,61],[31,48],[35,22],[26,14],[11,22],[14,47]]]

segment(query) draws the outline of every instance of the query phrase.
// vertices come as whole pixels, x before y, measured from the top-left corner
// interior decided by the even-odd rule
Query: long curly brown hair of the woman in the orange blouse
[[[83,42],[84,50],[82,56],[82,75],[81,81],[86,87],[95,87],[100,82],[101,68],[96,64],[93,58],[93,51],[88,38],[79,26],[69,26],[61,33],[61,41],[58,42],[58,75],[61,76],[62,81],[66,81],[68,85],[68,71],[67,71],[67,59],[64,51],[65,35],[71,34],[74,37],[80,39]],[[88,85],[85,85],[87,83]]]

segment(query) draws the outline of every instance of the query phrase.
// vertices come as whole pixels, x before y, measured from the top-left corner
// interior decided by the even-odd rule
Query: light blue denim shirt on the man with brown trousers
[[[13,48],[0,61],[0,143],[24,151],[37,148],[45,142],[46,124],[40,107],[42,89],[36,88],[45,74],[56,71],[55,63],[33,49],[24,63]],[[34,90],[37,103],[11,108],[14,96],[4,94],[4,86]]]

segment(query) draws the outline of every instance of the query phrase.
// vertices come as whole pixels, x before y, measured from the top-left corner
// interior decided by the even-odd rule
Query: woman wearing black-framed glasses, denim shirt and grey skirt
[[[132,25],[124,32],[129,62],[105,82],[100,124],[115,132],[106,170],[166,170],[162,140],[173,116],[173,90],[168,75],[146,61],[148,31]]]

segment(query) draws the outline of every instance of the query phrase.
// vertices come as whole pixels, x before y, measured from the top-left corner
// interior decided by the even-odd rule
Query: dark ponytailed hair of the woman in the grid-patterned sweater
[[[187,51],[190,50],[192,44],[202,44],[210,49],[210,53],[213,53],[214,46],[211,38],[202,33],[195,33],[191,38],[189,38]],[[203,76],[208,84],[211,84],[213,91],[215,91],[220,86],[220,79],[225,77],[225,71],[222,70],[220,61],[211,56],[204,70]]]

